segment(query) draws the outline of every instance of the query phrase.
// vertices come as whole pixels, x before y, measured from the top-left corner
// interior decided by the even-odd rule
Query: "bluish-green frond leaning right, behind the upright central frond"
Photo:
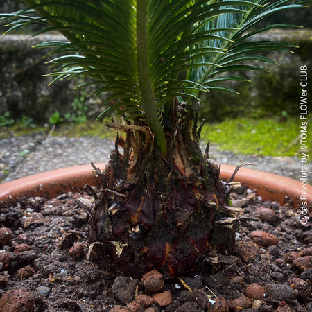
[[[223,1],[227,3],[228,1]],[[277,1],[273,4],[268,4],[264,0],[257,1],[261,6],[254,6],[248,10],[245,15],[239,15],[236,13],[230,13],[228,15],[219,16],[216,21],[216,28],[233,28],[232,31],[220,31],[219,35],[223,35],[232,41],[222,41],[222,40],[209,40],[203,44],[207,46],[218,46],[219,48],[225,49],[227,52],[219,55],[206,55],[204,61],[213,62],[218,64],[216,66],[201,67],[200,69],[191,69],[188,73],[188,78],[190,80],[195,80],[198,83],[205,85],[207,89],[215,89],[218,87],[216,85],[216,80],[211,80],[211,78],[218,77],[227,71],[245,71],[245,70],[259,70],[263,71],[262,66],[250,66],[250,61],[254,62],[266,62],[275,63],[274,60],[265,58],[263,56],[252,54],[253,52],[259,51],[283,51],[291,52],[292,49],[296,48],[293,44],[288,44],[288,42],[277,42],[277,41],[251,41],[252,37],[264,31],[268,31],[274,28],[293,28],[297,27],[291,24],[275,24],[266,26],[264,28],[256,29],[253,28],[257,26],[259,21],[263,21],[271,15],[281,12],[283,10],[302,8],[303,1],[297,1],[291,3],[288,0]],[[247,9],[246,7],[243,7]],[[209,27],[211,21],[203,27]],[[198,46],[193,46],[193,49],[198,49]],[[245,64],[244,62],[247,61]],[[195,62],[195,61],[194,61]],[[232,80],[232,76],[225,76],[227,79]],[[217,80],[219,83],[220,80]],[[211,84],[212,83],[212,84]]]

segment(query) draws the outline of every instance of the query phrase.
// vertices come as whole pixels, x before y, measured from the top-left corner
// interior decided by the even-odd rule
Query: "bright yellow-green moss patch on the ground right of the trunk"
[[[308,133],[312,132],[309,124]],[[202,139],[218,145],[221,150],[237,154],[261,156],[295,156],[300,148],[300,119],[279,122],[276,119],[234,119],[208,124],[202,129]],[[311,148],[311,142],[309,142]]]

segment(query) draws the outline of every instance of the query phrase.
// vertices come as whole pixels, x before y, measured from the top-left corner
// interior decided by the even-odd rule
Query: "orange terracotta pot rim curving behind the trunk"
[[[103,169],[105,163],[96,164],[96,166]],[[221,179],[227,180],[234,169],[234,166],[222,165]],[[8,204],[13,204],[19,198],[34,196],[53,198],[68,191],[83,189],[87,183],[98,186],[100,181],[92,175],[91,170],[90,165],[75,166],[29,175],[0,184],[0,202],[5,201]],[[294,207],[297,207],[303,190],[302,182],[248,168],[241,168],[234,181],[239,181],[250,189],[256,189],[258,196],[261,196],[263,200],[277,200],[283,204],[285,196],[288,196],[293,200]],[[311,185],[306,186],[306,193],[308,194],[306,195],[306,202],[308,205],[312,205]]]

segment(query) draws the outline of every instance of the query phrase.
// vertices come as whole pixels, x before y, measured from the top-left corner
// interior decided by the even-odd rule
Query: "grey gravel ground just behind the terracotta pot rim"
[[[8,182],[58,168],[106,162],[114,142],[98,137],[49,137],[44,133],[8,137],[0,140],[0,182]],[[211,159],[221,164],[237,165],[252,162],[250,168],[300,180],[301,163],[297,157],[255,157],[235,155],[232,152],[210,148]],[[309,164],[312,172],[312,164]],[[309,174],[311,183],[311,174]]]

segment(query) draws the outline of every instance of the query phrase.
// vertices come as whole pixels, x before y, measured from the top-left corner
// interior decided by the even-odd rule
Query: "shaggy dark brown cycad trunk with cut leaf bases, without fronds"
[[[233,230],[218,224],[231,209],[218,166],[200,150],[193,112],[175,103],[170,123],[165,156],[146,132],[128,129],[116,139],[123,155],[116,146],[105,168],[96,239],[126,275],[187,274],[211,250],[234,246]]]

